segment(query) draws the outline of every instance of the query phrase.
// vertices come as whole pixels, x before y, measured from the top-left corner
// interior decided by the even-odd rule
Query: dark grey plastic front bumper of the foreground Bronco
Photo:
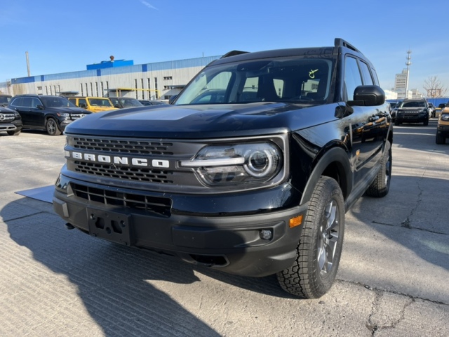
[[[305,217],[307,205],[276,211],[253,209],[234,215],[149,212],[83,199],[72,192],[72,184],[91,185],[104,194],[117,190],[63,178],[58,180],[53,208],[67,223],[111,242],[178,256],[189,263],[206,265],[236,275],[262,277],[293,264],[302,225],[290,228],[290,219]],[[65,187],[67,193],[61,187]],[[109,191],[109,192],[108,192]],[[121,192],[119,192],[121,193]],[[164,194],[165,196],[165,194]],[[215,197],[215,204],[232,202],[235,196]],[[194,198],[194,196],[192,196]],[[266,202],[264,190],[253,192],[252,204]],[[220,200],[219,200],[220,199]],[[193,203],[191,203],[193,204]],[[172,208],[173,209],[173,208]],[[271,233],[269,239],[262,238]]]

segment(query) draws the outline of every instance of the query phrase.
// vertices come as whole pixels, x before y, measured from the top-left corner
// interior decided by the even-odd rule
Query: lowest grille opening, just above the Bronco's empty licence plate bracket
[[[81,199],[99,202],[108,206],[126,207],[137,211],[158,213],[161,216],[170,216],[171,199],[151,197],[144,194],[124,193],[102,188],[89,187],[71,183],[72,191]]]

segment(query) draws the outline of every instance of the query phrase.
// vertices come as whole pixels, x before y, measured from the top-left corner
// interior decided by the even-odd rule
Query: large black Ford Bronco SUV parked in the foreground
[[[389,192],[389,105],[373,65],[342,39],[230,52],[173,105],[91,114],[65,134],[53,207],[67,228],[276,274],[306,298],[333,284],[344,213],[365,192]]]

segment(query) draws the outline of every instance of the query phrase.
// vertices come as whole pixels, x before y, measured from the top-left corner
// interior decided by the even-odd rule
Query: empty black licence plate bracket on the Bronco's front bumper
[[[98,209],[86,209],[88,217],[89,233],[94,237],[107,239],[111,242],[131,246],[131,216],[99,211]]]

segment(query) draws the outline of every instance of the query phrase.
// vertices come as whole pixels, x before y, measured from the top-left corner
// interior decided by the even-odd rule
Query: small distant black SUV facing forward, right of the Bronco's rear
[[[402,123],[422,123],[426,126],[429,125],[430,113],[427,100],[403,100],[403,102],[396,107],[394,125],[401,125]]]

